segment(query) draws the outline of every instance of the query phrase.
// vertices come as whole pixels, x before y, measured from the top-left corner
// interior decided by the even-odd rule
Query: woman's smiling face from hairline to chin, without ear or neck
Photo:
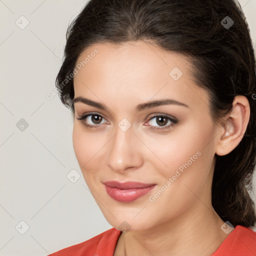
[[[145,230],[211,205],[215,129],[189,59],[144,41],[93,44],[76,65],[86,57],[74,98],[90,101],[74,102],[73,148],[107,221]],[[112,180],[152,186],[105,186]]]

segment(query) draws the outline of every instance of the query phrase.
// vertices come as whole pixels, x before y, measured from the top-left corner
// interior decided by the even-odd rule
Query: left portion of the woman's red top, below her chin
[[[110,256],[114,252],[120,234],[121,231],[113,227],[86,241],[63,248],[48,256]]]

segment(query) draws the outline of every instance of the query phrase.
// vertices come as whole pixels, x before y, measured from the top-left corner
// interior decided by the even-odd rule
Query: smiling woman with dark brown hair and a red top
[[[233,0],[90,0],[56,78],[113,228],[63,255],[255,255],[256,78]]]

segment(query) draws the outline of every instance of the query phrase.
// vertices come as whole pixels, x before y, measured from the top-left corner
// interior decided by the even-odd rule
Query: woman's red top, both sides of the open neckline
[[[110,228],[84,242],[58,250],[48,256],[113,256],[120,230]],[[237,225],[211,256],[255,256],[256,233]]]

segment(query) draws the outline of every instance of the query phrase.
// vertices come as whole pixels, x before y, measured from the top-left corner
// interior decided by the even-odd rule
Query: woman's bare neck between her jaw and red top
[[[212,206],[199,204],[199,210],[194,207],[172,221],[122,233],[118,240],[122,252],[114,255],[210,256],[227,235],[220,229],[223,221]]]

